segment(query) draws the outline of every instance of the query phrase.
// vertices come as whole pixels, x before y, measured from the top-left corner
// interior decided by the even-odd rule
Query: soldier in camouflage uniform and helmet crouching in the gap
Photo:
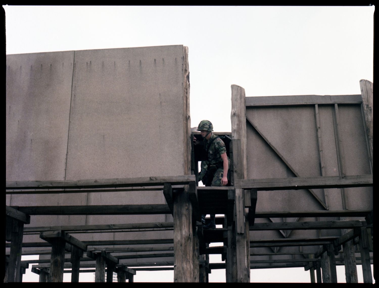
[[[208,155],[208,159],[201,162],[199,180],[205,186],[226,186],[228,184],[227,175],[230,168],[230,160],[226,155],[224,141],[212,133],[213,125],[208,120],[202,120],[197,127],[197,131],[200,131],[204,140],[200,142],[194,137],[194,145],[203,144]],[[205,225],[205,215],[201,215],[204,228],[216,228],[215,215],[211,214],[210,216],[210,223]]]

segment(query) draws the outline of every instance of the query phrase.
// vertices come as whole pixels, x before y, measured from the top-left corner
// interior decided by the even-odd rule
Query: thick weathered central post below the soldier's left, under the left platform
[[[194,282],[192,204],[188,185],[174,199],[174,282]],[[196,267],[196,269],[198,269]]]

